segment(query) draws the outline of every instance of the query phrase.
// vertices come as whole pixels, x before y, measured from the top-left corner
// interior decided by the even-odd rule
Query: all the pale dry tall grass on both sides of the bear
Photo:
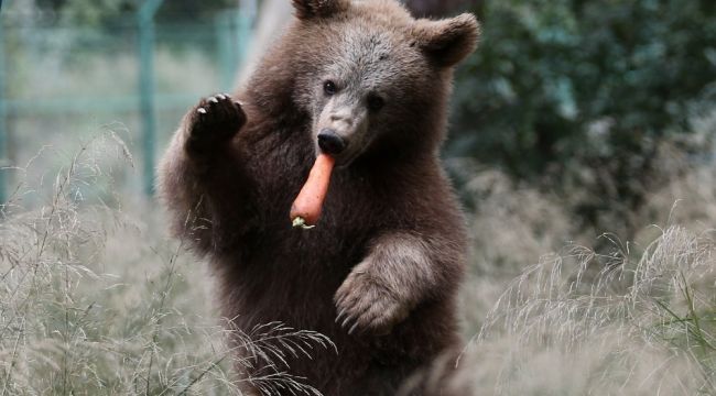
[[[64,165],[33,170],[42,156]],[[166,239],[152,204],[116,194],[133,160],[111,130],[39,157],[0,208],[0,396],[319,395],[285,362],[335,353],[330,341],[217,322],[206,265]],[[428,374],[436,394],[716,395],[712,169],[651,194],[643,221],[666,226],[634,241],[594,240],[561,197],[479,175],[468,346],[449,382]]]

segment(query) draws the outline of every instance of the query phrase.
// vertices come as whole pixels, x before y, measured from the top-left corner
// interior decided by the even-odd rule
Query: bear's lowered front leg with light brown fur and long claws
[[[378,238],[336,292],[336,322],[349,333],[356,329],[389,333],[417,304],[440,290],[441,283],[449,282],[446,275],[456,273],[449,270],[452,257],[434,257],[435,249],[432,241],[411,233]]]

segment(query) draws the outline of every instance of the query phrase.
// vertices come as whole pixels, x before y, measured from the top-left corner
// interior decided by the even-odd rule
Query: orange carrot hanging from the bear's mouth
[[[311,168],[306,184],[291,206],[293,227],[311,229],[316,226],[323,209],[323,201],[328,193],[330,173],[336,161],[328,154],[321,153]]]

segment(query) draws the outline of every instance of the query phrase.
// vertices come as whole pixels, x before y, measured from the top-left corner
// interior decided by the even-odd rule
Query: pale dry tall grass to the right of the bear
[[[716,395],[715,174],[675,176],[641,215],[666,226],[634,241],[590,240],[555,197],[477,180],[490,186],[465,288],[477,330],[443,394]],[[560,241],[565,231],[581,241]]]

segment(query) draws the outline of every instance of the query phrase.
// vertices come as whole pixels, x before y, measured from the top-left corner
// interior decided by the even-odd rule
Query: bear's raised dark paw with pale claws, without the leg
[[[246,123],[241,103],[226,94],[202,99],[188,114],[186,148],[191,154],[210,154],[234,138]]]

